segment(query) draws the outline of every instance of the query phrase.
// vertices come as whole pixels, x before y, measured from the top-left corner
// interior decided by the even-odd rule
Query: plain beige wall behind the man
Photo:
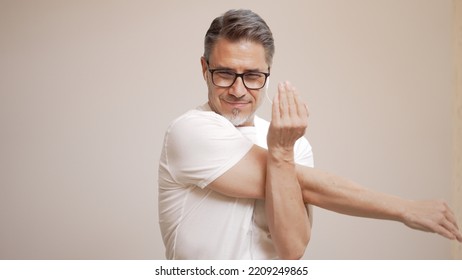
[[[0,0],[0,258],[164,257],[163,133],[206,100],[203,36],[241,7],[273,30],[270,92],[289,79],[309,103],[317,167],[446,199],[460,222],[456,2]],[[314,222],[308,259],[461,258],[396,222]]]

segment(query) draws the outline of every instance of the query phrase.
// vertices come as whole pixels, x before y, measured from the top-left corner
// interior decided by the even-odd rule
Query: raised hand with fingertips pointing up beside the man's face
[[[308,126],[308,109],[296,89],[289,83],[279,83],[273,100],[272,119],[268,132],[268,149],[293,149]]]

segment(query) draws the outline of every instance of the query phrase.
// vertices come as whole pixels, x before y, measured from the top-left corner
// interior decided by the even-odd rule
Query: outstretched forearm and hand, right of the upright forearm
[[[399,221],[462,242],[455,215],[444,201],[403,199],[305,166],[298,166],[298,178],[307,203],[352,216]]]

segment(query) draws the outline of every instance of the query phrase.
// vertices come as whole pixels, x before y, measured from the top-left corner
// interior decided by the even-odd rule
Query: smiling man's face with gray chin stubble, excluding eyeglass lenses
[[[225,69],[235,73],[265,72],[269,65],[265,60],[265,50],[259,43],[241,40],[230,42],[219,39],[212,49],[209,65],[203,57],[202,72],[207,82],[209,105],[213,111],[230,120],[235,126],[251,126],[255,111],[260,106],[264,91],[248,89],[241,77],[228,88],[215,86],[212,83],[210,69]]]

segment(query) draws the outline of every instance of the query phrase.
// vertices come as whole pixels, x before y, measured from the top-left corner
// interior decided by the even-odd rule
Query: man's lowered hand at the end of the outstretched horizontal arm
[[[462,242],[454,213],[444,201],[411,201],[404,211],[403,223],[408,227]]]

